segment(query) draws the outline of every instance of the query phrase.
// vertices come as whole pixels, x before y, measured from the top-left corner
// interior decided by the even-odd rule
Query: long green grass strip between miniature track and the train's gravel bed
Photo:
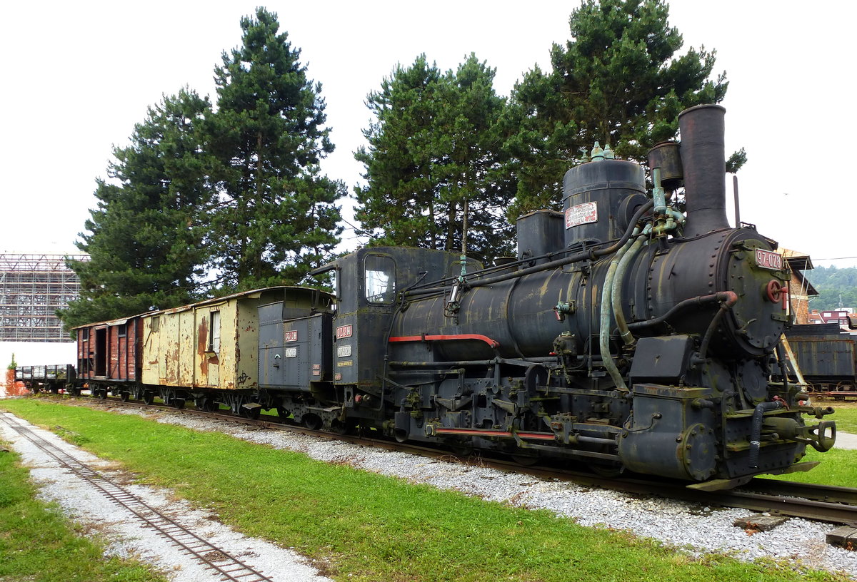
[[[340,580],[835,580],[725,556],[699,560],[626,532],[545,511],[327,464],[219,433],[39,400],[11,412],[84,440],[148,484],[171,487],[225,523],[315,559]]]

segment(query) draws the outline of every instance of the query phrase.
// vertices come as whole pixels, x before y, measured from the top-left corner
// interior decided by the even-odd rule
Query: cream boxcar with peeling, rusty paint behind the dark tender
[[[314,294],[318,292],[308,288],[256,289],[144,314],[142,383],[189,389],[258,388],[258,306],[285,300],[298,311],[309,312]]]

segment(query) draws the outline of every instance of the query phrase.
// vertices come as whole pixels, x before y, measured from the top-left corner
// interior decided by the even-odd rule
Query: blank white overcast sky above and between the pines
[[[113,145],[126,145],[147,106],[164,94],[190,86],[213,96],[213,68],[223,50],[239,45],[239,19],[256,5],[3,3],[0,252],[76,252]],[[351,189],[362,170],[353,151],[370,121],[363,100],[396,62],[425,52],[440,68],[455,68],[472,51],[497,69],[495,88],[507,95],[534,64],[549,68],[548,50],[569,39],[568,17],[578,3],[266,5],[322,84],[336,145],[322,169]],[[670,3],[670,23],[685,46],[716,49],[716,72],[728,74],[727,150],[746,147],[749,158],[739,173],[741,219],[810,253],[816,264],[857,255],[857,204],[843,161],[857,135],[848,107],[855,7],[845,0]]]

